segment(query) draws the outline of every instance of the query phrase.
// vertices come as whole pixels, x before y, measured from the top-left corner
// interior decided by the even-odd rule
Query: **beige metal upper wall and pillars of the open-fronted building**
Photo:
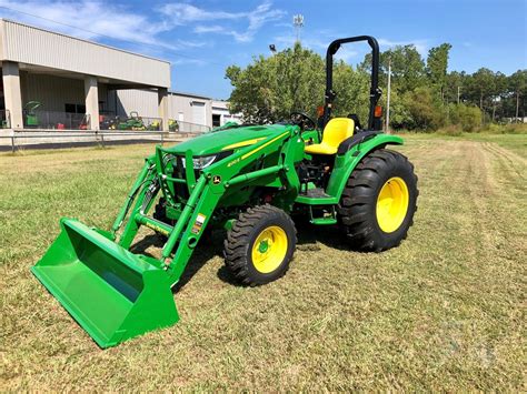
[[[27,125],[22,110],[37,101],[57,124],[68,118],[61,113],[84,112],[98,130],[99,110],[111,107],[108,91],[118,89],[153,91],[158,117],[168,124],[169,62],[9,20],[0,20],[0,109],[13,129]]]

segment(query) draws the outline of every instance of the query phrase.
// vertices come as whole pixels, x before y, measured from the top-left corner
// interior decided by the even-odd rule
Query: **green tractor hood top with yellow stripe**
[[[215,154],[255,144],[261,139],[285,130],[286,127],[285,124],[267,124],[220,130],[185,141],[171,147],[167,152],[185,154],[190,150],[193,156]]]

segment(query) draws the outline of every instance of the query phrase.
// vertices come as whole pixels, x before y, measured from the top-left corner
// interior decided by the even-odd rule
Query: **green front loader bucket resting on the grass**
[[[71,219],[32,273],[101,347],[179,320],[166,272]]]

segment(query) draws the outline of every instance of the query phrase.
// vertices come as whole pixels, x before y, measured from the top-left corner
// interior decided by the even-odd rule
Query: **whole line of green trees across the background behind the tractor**
[[[385,94],[391,69],[390,128],[435,131],[454,125],[476,131],[488,123],[515,122],[526,117],[527,70],[510,75],[480,68],[474,73],[448,72],[451,44],[431,48],[424,59],[415,46],[380,53],[379,81]],[[356,113],[365,123],[369,103],[371,54],[352,67],[334,65],[335,115]],[[324,103],[325,60],[296,43],[271,57],[259,55],[246,68],[230,65],[230,110],[250,123],[276,122],[296,110],[316,115]]]

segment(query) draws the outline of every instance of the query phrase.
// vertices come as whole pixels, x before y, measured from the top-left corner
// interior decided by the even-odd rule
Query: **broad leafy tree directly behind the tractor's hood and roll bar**
[[[288,119],[292,111],[316,119],[324,103],[325,62],[300,43],[272,57],[255,58],[241,69],[230,65],[226,78],[232,84],[231,111],[241,112],[243,121],[267,123]],[[334,90],[337,98],[334,114],[358,113],[366,120],[369,104],[369,79],[344,61],[335,63]]]

